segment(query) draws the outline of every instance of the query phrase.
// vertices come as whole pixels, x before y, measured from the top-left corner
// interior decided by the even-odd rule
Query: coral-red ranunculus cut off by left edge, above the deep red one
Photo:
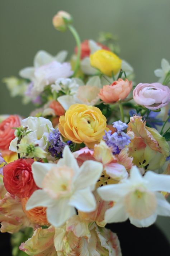
[[[13,139],[15,139],[14,127],[20,126],[19,116],[9,116],[3,122],[0,123],[0,150],[3,156],[10,154],[9,145]]]

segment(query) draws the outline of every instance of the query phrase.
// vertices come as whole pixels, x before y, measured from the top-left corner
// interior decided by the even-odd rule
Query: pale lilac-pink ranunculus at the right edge
[[[170,102],[170,89],[160,83],[140,83],[133,91],[133,99],[137,104],[156,110]]]

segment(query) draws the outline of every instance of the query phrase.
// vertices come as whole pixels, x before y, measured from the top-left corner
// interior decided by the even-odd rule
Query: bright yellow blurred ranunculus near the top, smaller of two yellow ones
[[[90,55],[90,64],[101,73],[112,76],[112,73],[116,75],[120,71],[122,60],[112,51],[98,50]]]

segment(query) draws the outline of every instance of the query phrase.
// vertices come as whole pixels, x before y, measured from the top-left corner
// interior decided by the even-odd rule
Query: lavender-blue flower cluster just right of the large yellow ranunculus
[[[116,129],[116,131],[114,133],[112,133],[112,131],[105,131],[103,139],[108,147],[112,148],[113,154],[119,154],[121,150],[131,141],[130,137],[124,133],[124,130],[127,129],[126,123],[116,121],[113,123],[113,127]]]

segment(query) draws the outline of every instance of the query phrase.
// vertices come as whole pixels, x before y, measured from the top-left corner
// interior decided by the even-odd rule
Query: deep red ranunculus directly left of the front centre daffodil
[[[10,194],[25,198],[38,189],[31,170],[33,162],[31,158],[20,158],[4,166],[4,186]]]

